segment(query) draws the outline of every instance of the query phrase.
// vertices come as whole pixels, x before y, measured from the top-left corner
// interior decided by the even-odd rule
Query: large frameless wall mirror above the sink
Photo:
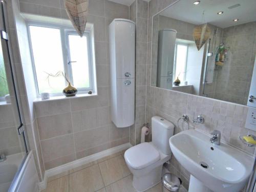
[[[153,17],[151,85],[247,105],[256,1],[194,2],[180,0]]]

